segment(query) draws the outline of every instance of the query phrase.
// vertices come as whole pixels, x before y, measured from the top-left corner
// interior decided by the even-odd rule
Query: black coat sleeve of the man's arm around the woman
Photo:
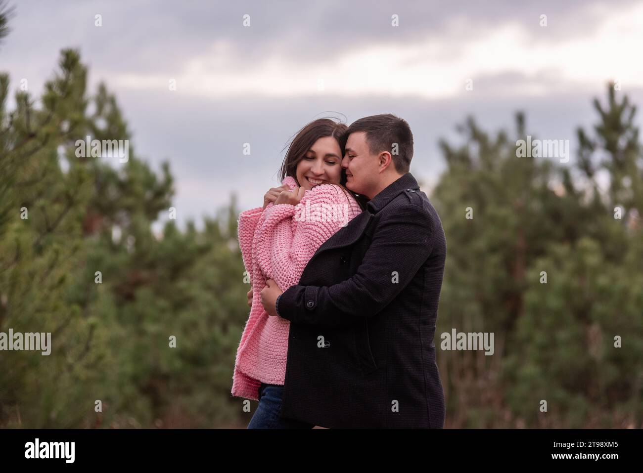
[[[279,298],[280,317],[294,323],[354,325],[372,317],[410,283],[434,245],[430,215],[408,205],[386,215],[356,274],[332,286],[294,285]]]

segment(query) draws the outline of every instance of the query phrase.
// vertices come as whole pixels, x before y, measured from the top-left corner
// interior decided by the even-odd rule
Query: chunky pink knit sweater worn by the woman
[[[296,181],[286,177],[293,189]],[[232,381],[232,395],[257,400],[261,382],[284,384],[290,321],[268,316],[261,304],[266,279],[281,290],[299,282],[317,249],[361,213],[358,203],[334,184],[307,190],[296,206],[272,203],[239,215],[239,247],[252,284],[252,308],[243,334]]]

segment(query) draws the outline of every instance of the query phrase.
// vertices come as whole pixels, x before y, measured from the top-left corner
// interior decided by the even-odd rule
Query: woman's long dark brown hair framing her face
[[[290,144],[286,145],[288,150],[285,154],[284,162],[282,163],[280,170],[282,183],[286,176],[290,176],[299,186],[301,186],[299,181],[297,181],[297,165],[311,149],[312,145],[314,145],[320,138],[332,136],[332,138],[337,140],[338,145],[340,145],[341,156],[344,156],[344,148],[346,145],[344,134],[348,128],[349,127],[347,127],[345,123],[334,121],[331,118],[319,118],[318,120],[311,121],[311,123],[305,125],[296,133],[294,138],[290,141]],[[321,184],[316,185],[321,186]],[[350,193],[350,195],[354,197],[361,210],[365,210],[368,197],[356,194],[352,192],[352,190],[346,188],[346,171],[343,168],[341,169],[340,183],[338,185],[342,188],[345,194]]]

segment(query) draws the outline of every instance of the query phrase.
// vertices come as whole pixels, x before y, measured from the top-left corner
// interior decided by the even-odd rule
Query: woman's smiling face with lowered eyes
[[[315,141],[297,163],[297,182],[305,190],[321,183],[339,184],[341,179],[340,143],[332,136]]]

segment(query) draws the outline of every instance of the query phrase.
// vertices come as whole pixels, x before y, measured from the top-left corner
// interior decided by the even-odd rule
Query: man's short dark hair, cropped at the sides
[[[406,120],[390,113],[365,116],[350,125],[344,140],[355,132],[366,133],[371,154],[390,152],[398,174],[409,171],[413,157],[413,133]]]

